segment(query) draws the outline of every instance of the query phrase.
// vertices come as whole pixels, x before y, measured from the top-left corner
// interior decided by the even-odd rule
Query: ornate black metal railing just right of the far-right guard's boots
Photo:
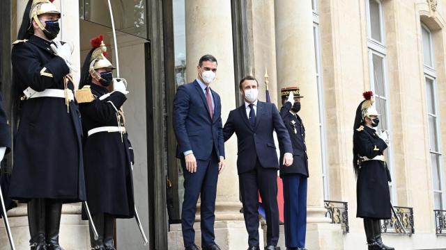
[[[395,212],[403,225],[404,229],[408,234],[415,233],[415,228],[413,226],[413,208],[399,207],[395,206]],[[381,223],[381,233],[404,233],[403,228],[398,224],[397,217],[395,217],[392,212],[392,218],[382,219]]]

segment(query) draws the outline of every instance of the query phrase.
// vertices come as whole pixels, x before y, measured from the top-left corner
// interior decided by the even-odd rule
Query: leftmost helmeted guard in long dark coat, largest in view
[[[15,144],[10,197],[28,203],[31,249],[62,249],[62,203],[84,201],[82,128],[70,44],[56,42],[61,13],[30,0],[12,51]]]

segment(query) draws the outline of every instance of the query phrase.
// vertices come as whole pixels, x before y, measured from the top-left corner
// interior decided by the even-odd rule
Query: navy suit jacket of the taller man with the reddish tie
[[[184,152],[192,150],[195,158],[207,160],[213,149],[217,158],[224,157],[222,104],[217,92],[212,89],[211,92],[215,103],[212,119],[206,97],[197,81],[178,87],[173,117],[178,142],[177,158],[184,158]]]

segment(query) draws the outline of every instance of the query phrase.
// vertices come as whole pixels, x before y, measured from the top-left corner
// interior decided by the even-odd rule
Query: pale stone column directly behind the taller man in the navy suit
[[[236,108],[236,87],[233,70],[233,41],[230,1],[188,0],[186,12],[187,82],[197,78],[199,58],[211,54],[217,58],[217,78],[210,88],[222,98],[223,124],[229,111]],[[247,232],[239,201],[236,167],[236,136],[226,142],[226,167],[220,174],[215,204],[215,236],[223,249],[243,249],[247,246]],[[198,205],[199,206],[199,205]],[[199,210],[197,210],[199,220]],[[199,223],[195,223],[198,228]],[[196,231],[197,244],[201,240]]]

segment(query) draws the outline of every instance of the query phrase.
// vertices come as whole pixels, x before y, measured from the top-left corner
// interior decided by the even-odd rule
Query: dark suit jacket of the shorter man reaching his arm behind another
[[[285,152],[293,152],[288,131],[279,115],[279,110],[273,103],[257,102],[256,125],[249,124],[245,103],[232,110],[224,124],[224,140],[229,140],[233,133],[237,135],[238,174],[249,172],[256,167],[259,159],[261,167],[279,169],[276,146],[272,132],[276,131],[280,146]]]

